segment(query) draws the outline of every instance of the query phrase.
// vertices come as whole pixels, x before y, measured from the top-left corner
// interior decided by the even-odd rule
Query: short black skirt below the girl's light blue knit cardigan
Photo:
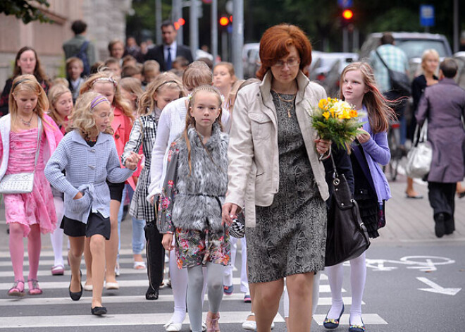
[[[91,212],[87,218],[87,223],[63,216],[60,228],[63,229],[63,233],[72,237],[87,236],[90,238],[92,235],[99,234],[106,240],[110,240],[111,235],[110,219],[105,218],[99,212],[96,214]]]

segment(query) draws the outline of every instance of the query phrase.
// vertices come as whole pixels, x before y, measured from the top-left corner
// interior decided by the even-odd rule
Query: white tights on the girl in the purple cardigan
[[[350,324],[362,325],[361,299],[364,295],[366,281],[365,252],[350,261],[350,287],[352,290],[352,305],[350,306]],[[337,319],[342,311],[342,280],[344,271],[342,263],[325,268],[331,288],[332,305],[328,312],[328,318]]]

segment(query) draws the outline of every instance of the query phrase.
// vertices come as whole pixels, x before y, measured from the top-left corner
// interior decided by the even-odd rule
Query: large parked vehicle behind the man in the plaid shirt
[[[380,45],[382,32],[368,35],[361,46],[360,59],[369,58],[371,51]],[[452,56],[450,44],[444,35],[423,32],[392,32],[395,46],[402,49],[409,59],[409,76],[413,80],[421,73],[421,56],[426,49],[438,51],[440,60]]]

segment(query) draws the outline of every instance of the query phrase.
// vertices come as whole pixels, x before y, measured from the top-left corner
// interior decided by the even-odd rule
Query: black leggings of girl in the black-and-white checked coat
[[[163,234],[156,228],[156,221],[150,221],[145,225],[145,240],[147,246],[147,275],[149,285],[152,289],[158,290],[163,282],[163,267],[165,264],[165,249],[161,245]]]

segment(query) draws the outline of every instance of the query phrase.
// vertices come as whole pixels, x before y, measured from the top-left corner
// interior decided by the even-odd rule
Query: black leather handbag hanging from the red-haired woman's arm
[[[344,174],[337,173],[333,155],[331,161],[334,168],[334,192],[328,211],[325,266],[359,257],[370,246],[359,206],[352,197]]]

